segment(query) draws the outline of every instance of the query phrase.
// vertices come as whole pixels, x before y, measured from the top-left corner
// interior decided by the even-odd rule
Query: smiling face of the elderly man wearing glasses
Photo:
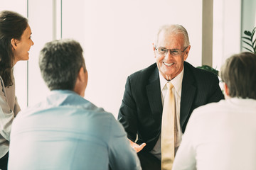
[[[159,53],[156,52],[156,48],[158,47],[183,51],[185,49],[184,37],[181,33],[166,33],[163,30],[159,33],[158,44],[154,45],[154,56],[159,72],[161,72],[161,75],[166,80],[174,79],[174,77],[182,71],[183,63],[188,57],[191,46],[189,45],[184,52],[181,52],[181,55],[175,57],[170,54],[170,50],[166,55],[159,55]]]

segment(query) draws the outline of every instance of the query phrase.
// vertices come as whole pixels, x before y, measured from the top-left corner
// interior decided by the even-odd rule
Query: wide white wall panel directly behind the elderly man
[[[163,24],[178,23],[188,30],[188,61],[201,65],[201,6],[201,0],[85,3],[80,16],[89,73],[85,98],[117,115],[127,76],[155,62],[152,42]]]

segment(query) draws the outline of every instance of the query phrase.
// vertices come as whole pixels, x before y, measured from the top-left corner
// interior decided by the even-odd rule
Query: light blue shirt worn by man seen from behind
[[[141,169],[122,125],[73,91],[51,91],[18,113],[9,169]]]

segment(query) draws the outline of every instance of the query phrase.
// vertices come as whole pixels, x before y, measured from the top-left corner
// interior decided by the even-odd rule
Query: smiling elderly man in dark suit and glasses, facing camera
[[[171,91],[175,101],[175,142],[169,144],[173,145],[174,154],[192,111],[224,96],[215,74],[185,62],[191,45],[183,26],[162,26],[153,46],[156,63],[127,78],[118,120],[138,152],[142,169],[171,169],[174,158],[167,159],[171,165],[164,168],[163,150],[168,149],[161,147],[161,136],[167,129],[162,127],[166,121],[162,115],[167,91]],[[167,89],[169,82],[172,89]]]

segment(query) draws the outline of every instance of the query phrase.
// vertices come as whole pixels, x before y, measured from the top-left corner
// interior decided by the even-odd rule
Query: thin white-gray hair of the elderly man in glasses
[[[164,25],[164,26],[161,26],[159,28],[159,31],[156,34],[155,45],[158,44],[159,34],[162,31],[165,31],[166,33],[182,34],[183,37],[184,37],[184,45],[183,46],[184,47],[188,47],[188,45],[190,45],[187,30],[183,26],[178,25],[178,24],[176,24],[176,25]]]

